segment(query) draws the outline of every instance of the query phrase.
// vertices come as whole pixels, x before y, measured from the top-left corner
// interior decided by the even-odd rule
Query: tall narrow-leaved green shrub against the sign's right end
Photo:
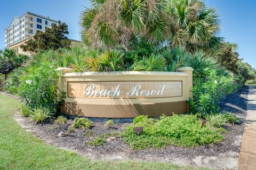
[[[193,99],[189,100],[191,112],[200,113],[201,116],[219,112],[220,99],[225,95],[225,90],[233,86],[233,77],[226,72],[205,69],[204,75],[204,78],[195,78],[191,90]]]

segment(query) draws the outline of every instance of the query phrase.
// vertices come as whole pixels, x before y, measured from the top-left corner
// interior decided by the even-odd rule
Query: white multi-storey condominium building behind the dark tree
[[[51,28],[52,23],[58,21],[29,11],[21,17],[14,17],[10,26],[5,29],[5,48],[34,36],[37,30]]]

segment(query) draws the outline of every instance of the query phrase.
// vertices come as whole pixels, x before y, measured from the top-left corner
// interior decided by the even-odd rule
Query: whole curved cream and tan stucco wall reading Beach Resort
[[[156,117],[186,112],[193,68],[179,70],[67,72],[61,79],[61,89],[67,92],[61,112],[96,118]]]

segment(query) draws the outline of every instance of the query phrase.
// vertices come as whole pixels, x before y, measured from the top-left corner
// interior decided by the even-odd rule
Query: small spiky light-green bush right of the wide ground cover
[[[214,127],[221,127],[223,124],[227,123],[226,117],[221,114],[206,114],[206,120]]]

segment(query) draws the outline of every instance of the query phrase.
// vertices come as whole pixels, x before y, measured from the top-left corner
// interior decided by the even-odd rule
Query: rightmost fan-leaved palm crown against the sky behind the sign
[[[172,45],[185,46],[189,51],[198,49],[215,51],[221,45],[218,37],[219,15],[214,7],[207,8],[199,0],[170,0],[167,11],[175,18],[177,29],[173,33]]]

